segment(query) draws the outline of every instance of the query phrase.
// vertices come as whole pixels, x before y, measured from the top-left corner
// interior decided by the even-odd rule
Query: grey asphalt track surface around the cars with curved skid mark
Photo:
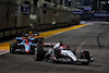
[[[7,53],[0,56],[0,73],[109,73],[108,39],[109,25],[90,22],[87,26],[45,39],[46,42],[63,41],[77,52],[88,50],[94,57],[89,65],[34,61],[33,54]]]

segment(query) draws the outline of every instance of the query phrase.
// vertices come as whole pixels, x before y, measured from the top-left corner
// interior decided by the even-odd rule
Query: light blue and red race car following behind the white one
[[[16,37],[16,41],[10,42],[10,52],[34,52],[35,48],[39,46],[39,44],[43,42],[43,37],[35,38],[35,36],[38,34],[34,34],[34,37],[32,37],[33,34],[25,34],[23,37]]]

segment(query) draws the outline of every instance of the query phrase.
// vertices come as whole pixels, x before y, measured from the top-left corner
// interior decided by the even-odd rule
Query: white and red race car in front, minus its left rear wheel
[[[37,53],[35,52],[35,56]],[[89,56],[88,51],[82,50],[80,54],[75,51],[69,49],[68,46],[63,45],[62,42],[58,42],[52,48],[50,48],[47,53],[45,53],[45,60],[49,62],[81,62],[84,65],[89,64],[93,62],[93,57]]]

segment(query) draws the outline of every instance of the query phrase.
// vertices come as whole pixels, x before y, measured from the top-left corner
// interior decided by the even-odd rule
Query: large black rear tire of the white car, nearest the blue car
[[[43,61],[45,58],[45,52],[43,47],[38,47],[37,50],[34,51],[34,60],[35,61]]]

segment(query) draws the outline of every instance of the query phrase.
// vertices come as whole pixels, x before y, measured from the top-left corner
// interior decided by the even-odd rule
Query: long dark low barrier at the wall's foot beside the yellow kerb
[[[57,24],[39,24],[37,32],[44,32],[44,31],[49,31],[49,29],[55,29],[55,28],[61,28],[61,27],[66,27],[71,26],[72,24],[66,23],[57,23]],[[21,35],[23,33],[28,33],[31,29],[29,26],[22,26],[22,27],[11,27],[11,28],[4,28],[0,29],[0,41],[3,40],[9,40],[10,38],[15,37],[16,35]],[[34,29],[33,29],[34,31]]]

